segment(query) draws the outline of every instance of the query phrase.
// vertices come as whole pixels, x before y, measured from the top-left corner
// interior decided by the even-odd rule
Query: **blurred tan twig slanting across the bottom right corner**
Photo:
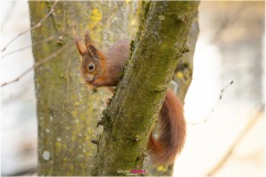
[[[264,104],[262,104],[256,111],[255,115],[249,119],[249,122],[245,125],[245,127],[241,131],[236,139],[229,146],[225,155],[221,158],[221,160],[207,173],[207,176],[213,176],[218,169],[221,169],[227,159],[231,157],[232,153],[236,148],[236,146],[242,142],[242,139],[246,136],[246,134],[252,129],[252,127],[257,123],[257,121],[263,117],[262,112],[264,111]]]

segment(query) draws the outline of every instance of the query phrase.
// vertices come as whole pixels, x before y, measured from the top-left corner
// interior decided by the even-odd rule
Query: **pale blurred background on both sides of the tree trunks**
[[[187,139],[174,174],[265,176],[265,2],[203,1],[198,23]],[[1,50],[29,28],[27,1],[1,1]],[[1,52],[0,83],[32,64],[28,32]],[[37,168],[35,112],[33,72],[1,87],[1,175]]]

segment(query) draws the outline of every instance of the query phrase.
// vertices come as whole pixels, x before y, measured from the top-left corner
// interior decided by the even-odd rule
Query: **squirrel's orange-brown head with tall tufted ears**
[[[74,39],[78,50],[82,56],[81,73],[86,82],[93,83],[95,79],[101,77],[104,73],[104,56],[93,44],[89,32],[85,33],[85,43],[79,39],[75,31]]]

